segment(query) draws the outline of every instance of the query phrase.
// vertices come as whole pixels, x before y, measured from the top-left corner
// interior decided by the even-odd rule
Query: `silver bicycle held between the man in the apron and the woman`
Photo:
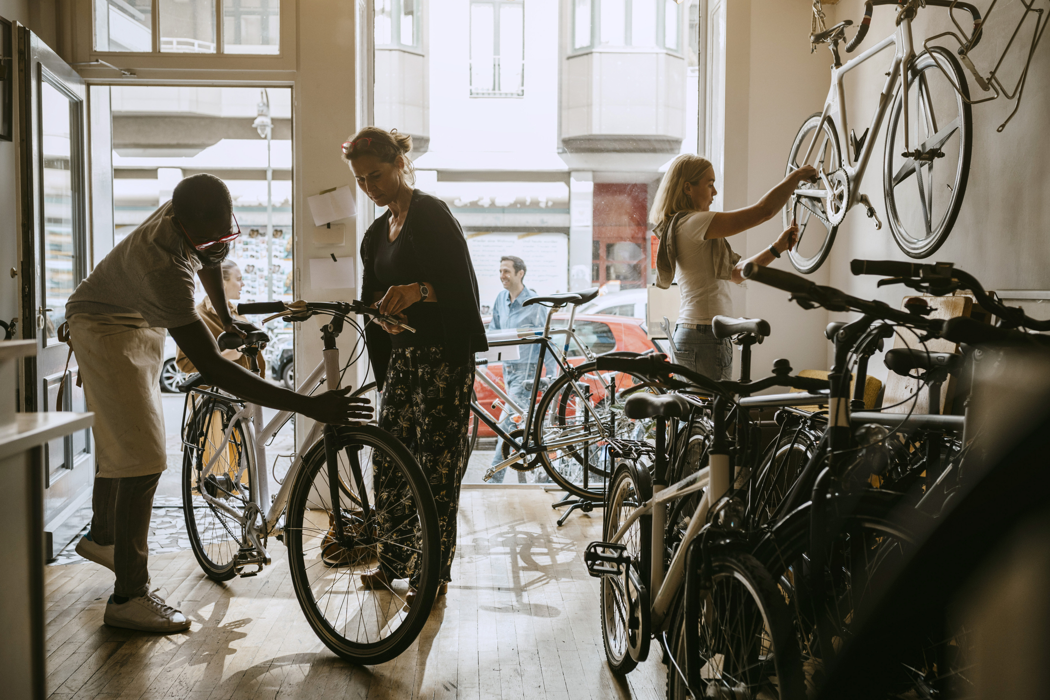
[[[323,360],[299,385],[302,395],[321,386],[339,388],[360,353],[341,364],[336,339],[350,325],[358,333],[357,349],[363,333],[355,314],[378,315],[359,301],[245,303],[237,311],[272,313],[271,318],[288,321],[330,317],[321,327]],[[240,348],[258,372],[260,349],[269,340],[265,333],[249,333],[246,339],[224,333],[217,340],[223,349]],[[264,425],[260,406],[208,383],[197,374],[180,386],[187,394],[184,513],[205,573],[216,581],[254,576],[271,564],[267,545],[276,538],[288,548],[299,606],[329,649],[357,663],[396,657],[423,629],[440,575],[437,509],[415,458],[375,425],[315,423],[271,495],[266,445],[292,413],[281,411]],[[365,588],[360,574],[380,564],[394,580]]]

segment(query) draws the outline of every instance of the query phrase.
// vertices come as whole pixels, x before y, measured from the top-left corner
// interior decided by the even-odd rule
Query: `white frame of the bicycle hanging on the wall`
[[[875,57],[877,54],[882,52],[889,46],[895,47],[894,61],[890,64],[889,71],[886,73],[886,82],[883,85],[882,91],[879,94],[879,106],[875,110],[875,114],[872,116],[872,125],[868,127],[867,137],[864,139],[864,145],[861,148],[859,154],[855,154],[853,150],[853,144],[849,134],[849,122],[846,113],[846,102],[845,102],[845,87],[843,85],[844,77],[847,72],[864,63],[868,59]],[[836,54],[837,56],[837,54]],[[819,153],[823,151],[824,141],[823,141],[823,127],[824,122],[828,116],[834,115],[834,124],[839,137],[839,148],[843,151],[843,170],[849,178],[849,200],[846,203],[845,209],[849,210],[855,204],[866,200],[866,195],[860,194],[860,183],[864,178],[864,172],[867,170],[868,162],[872,157],[872,152],[875,150],[875,144],[878,141],[879,129],[882,127],[882,121],[886,115],[886,111],[889,109],[890,104],[894,99],[894,90],[897,88],[898,80],[901,80],[902,90],[905,94],[903,96],[902,105],[902,118],[904,124],[904,150],[910,150],[908,148],[908,101],[907,101],[907,77],[906,71],[908,67],[912,64],[916,58],[915,43],[911,37],[911,20],[903,19],[901,23],[897,26],[897,29],[890,36],[886,37],[878,44],[857,56],[850,61],[846,61],[842,65],[832,66],[832,85],[827,91],[827,98],[824,101],[824,109],[820,114],[820,123],[817,125],[817,129],[813,132],[813,139],[810,141],[810,146],[805,151],[805,157],[802,158],[801,163],[798,165],[806,165],[810,163],[810,157],[813,155],[815,147],[820,145],[820,148],[816,148]],[[926,143],[919,145],[919,149],[926,151],[933,147],[933,144],[939,139],[946,140],[944,132],[950,132],[958,128],[957,125],[949,124],[942,127],[937,133],[927,140]],[[818,141],[819,140],[819,141]],[[908,158],[904,165],[901,167],[900,172],[897,173],[895,179],[900,179],[902,176],[910,174],[910,170],[915,169],[915,160]],[[817,198],[817,199],[827,199],[831,196],[832,185],[827,181],[827,176],[821,173],[821,178],[824,183],[824,190],[818,189],[798,189],[795,190],[795,196],[806,197],[806,198]],[[869,206],[865,201],[866,206]]]

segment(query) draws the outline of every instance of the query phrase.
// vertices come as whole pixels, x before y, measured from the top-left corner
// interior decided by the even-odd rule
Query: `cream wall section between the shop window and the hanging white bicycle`
[[[811,6],[807,0],[728,3],[726,174],[719,188],[727,211],[757,201],[781,181],[798,127],[823,106],[830,61],[810,54]],[[730,242],[748,257],[769,248],[782,230],[778,215]],[[773,267],[794,271],[786,257]],[[826,279],[825,269],[814,275],[819,283]],[[734,313],[764,318],[772,326],[770,339],[754,347],[754,377],[768,375],[781,357],[796,369],[826,368],[826,313],[804,311],[786,299],[786,293],[757,283],[735,290]]]

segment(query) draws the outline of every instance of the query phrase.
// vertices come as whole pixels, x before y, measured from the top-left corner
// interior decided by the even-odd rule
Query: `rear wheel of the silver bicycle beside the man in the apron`
[[[188,444],[183,448],[183,515],[201,568],[208,578],[225,581],[236,575],[237,553],[251,546],[240,519],[226,509],[243,513],[254,508],[249,506],[252,450],[245,423],[239,420],[223,445],[237,411],[233,404],[200,395],[188,400],[194,406],[184,427]]]

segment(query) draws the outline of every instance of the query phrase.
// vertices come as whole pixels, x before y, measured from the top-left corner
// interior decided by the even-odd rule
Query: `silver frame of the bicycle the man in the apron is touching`
[[[303,396],[310,395],[314,388],[321,382],[324,381],[328,385],[328,389],[339,388],[339,349],[332,348],[322,351],[323,359],[320,363],[314,367],[314,370],[310,373],[299,388],[296,389],[296,394]],[[212,389],[212,393],[215,393]],[[231,402],[242,403],[239,399],[225,391],[219,394],[224,399],[229,399]],[[218,461],[219,457],[225,454],[226,446],[230,442],[230,436],[233,433],[234,427],[239,423],[249,423],[252,428],[249,430],[244,430],[245,441],[248,443],[246,449],[240,451],[240,460],[247,460],[247,466],[242,464],[242,469],[248,469],[248,478],[250,483],[255,485],[253,489],[252,500],[250,504],[254,508],[246,508],[244,511],[233,508],[223,499],[216,499],[201,489],[200,495],[213,507],[222,510],[223,512],[236,518],[238,522],[245,525],[245,532],[248,534],[248,538],[251,539],[252,545],[255,547],[256,551],[261,554],[264,563],[269,565],[271,561],[270,553],[262,546],[260,534],[266,534],[267,536],[276,536],[282,533],[284,528],[278,527],[277,523],[280,516],[285,512],[285,507],[288,505],[288,497],[292,490],[292,485],[295,483],[295,475],[298,473],[299,468],[302,465],[302,454],[296,452],[295,459],[292,461],[289,467],[288,473],[285,475],[285,481],[280,485],[280,489],[277,490],[276,495],[273,499],[270,497],[270,483],[269,473],[267,472],[267,457],[266,457],[266,444],[273,438],[277,430],[281,428],[282,425],[292,417],[293,411],[282,410],[278,412],[266,426],[262,426],[262,407],[258,404],[244,402],[244,407],[233,415],[230,419],[229,425],[227,425],[226,430],[223,433],[223,442],[214,449],[214,453],[208,461],[208,464],[202,469],[202,475],[207,475],[215,463]],[[321,438],[321,430],[323,425],[321,423],[314,423],[313,427],[310,428],[310,432],[307,433],[306,439],[302,444],[306,446],[311,446],[315,444]],[[260,471],[259,465],[262,465]],[[269,510],[264,511],[266,504],[270,503]],[[265,514],[264,514],[265,513]],[[262,515],[261,526],[257,524],[257,514]]]

